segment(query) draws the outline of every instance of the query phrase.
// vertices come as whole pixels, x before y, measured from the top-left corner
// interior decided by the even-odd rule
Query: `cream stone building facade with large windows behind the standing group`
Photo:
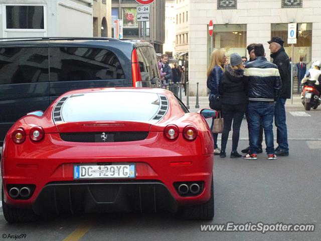
[[[248,56],[246,46],[262,43],[270,59],[272,36],[284,39],[284,49],[291,57],[292,45],[287,44],[289,23],[297,23],[297,44],[293,48],[293,63],[303,62],[307,68],[321,60],[321,1],[319,0],[189,0],[189,82],[195,93],[199,82],[200,95],[206,96],[207,67],[210,53],[224,48],[226,56],[237,52]],[[213,21],[213,38],[208,25]],[[213,49],[211,49],[211,41]],[[293,82],[296,80],[294,79]]]

